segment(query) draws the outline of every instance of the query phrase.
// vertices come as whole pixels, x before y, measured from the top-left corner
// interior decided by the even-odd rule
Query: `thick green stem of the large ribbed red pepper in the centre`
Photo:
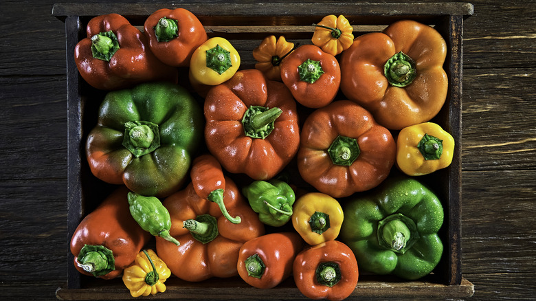
[[[251,106],[242,118],[244,133],[248,137],[265,139],[273,131],[273,122],[283,113],[282,109],[274,107]]]

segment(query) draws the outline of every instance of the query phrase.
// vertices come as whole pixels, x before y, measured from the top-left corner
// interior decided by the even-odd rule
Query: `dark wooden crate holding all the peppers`
[[[112,186],[91,175],[85,161],[87,133],[96,124],[98,104],[104,91],[89,87],[78,74],[74,63],[74,47],[85,38],[89,19],[116,12],[133,25],[142,28],[148,15],[159,8],[186,8],[205,25],[209,36],[223,36],[231,41],[241,55],[241,69],[254,66],[252,50],[269,34],[284,35],[300,44],[311,43],[317,23],[328,14],[344,14],[354,27],[354,35],[379,32],[400,19],[413,19],[432,25],[447,41],[449,52],[445,70],[449,77],[447,102],[432,120],[449,131],[456,140],[454,159],[449,168],[427,177],[445,207],[445,222],[440,236],[445,252],[438,267],[429,276],[416,281],[402,281],[390,276],[363,274],[350,296],[359,297],[440,297],[464,298],[473,295],[471,282],[461,272],[461,137],[462,137],[462,30],[463,21],[473,13],[471,3],[57,3],[53,14],[65,22],[67,43],[67,111],[68,111],[68,241],[81,219],[91,212]],[[67,246],[69,245],[67,241]],[[68,251],[68,282],[59,287],[56,296],[62,300],[117,300],[131,298],[122,280],[101,280],[82,276],[74,269]],[[185,282],[172,277],[166,293],[158,299],[305,299],[289,279],[274,289],[250,287],[240,278],[213,278],[203,282]]]

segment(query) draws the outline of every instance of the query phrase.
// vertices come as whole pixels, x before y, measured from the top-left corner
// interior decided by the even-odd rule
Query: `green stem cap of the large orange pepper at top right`
[[[383,74],[394,87],[405,87],[416,78],[417,69],[410,56],[399,52],[387,60],[383,66]]]

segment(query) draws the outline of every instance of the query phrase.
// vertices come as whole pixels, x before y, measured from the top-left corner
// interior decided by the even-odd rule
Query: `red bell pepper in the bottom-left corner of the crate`
[[[150,234],[128,214],[128,193],[124,186],[114,190],[76,227],[70,249],[81,274],[116,278],[149,241]]]

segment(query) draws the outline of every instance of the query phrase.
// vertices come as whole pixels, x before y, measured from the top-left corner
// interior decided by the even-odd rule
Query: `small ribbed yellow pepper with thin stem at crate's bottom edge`
[[[171,275],[170,269],[152,250],[137,254],[133,265],[123,271],[123,283],[131,291],[131,296],[149,296],[164,293],[164,282]]]

